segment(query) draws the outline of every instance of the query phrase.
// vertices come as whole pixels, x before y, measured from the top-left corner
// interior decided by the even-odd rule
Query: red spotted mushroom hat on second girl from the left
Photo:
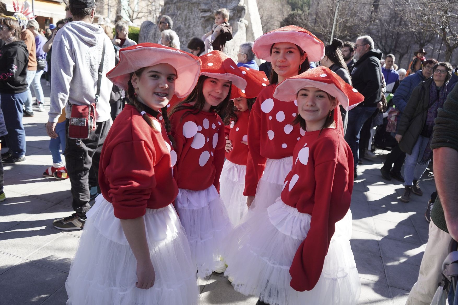
[[[246,80],[237,64],[221,51],[203,54],[201,75],[231,81],[235,87],[245,89]]]

